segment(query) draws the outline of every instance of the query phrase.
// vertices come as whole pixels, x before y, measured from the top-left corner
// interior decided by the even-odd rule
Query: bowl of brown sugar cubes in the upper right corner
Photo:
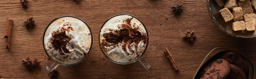
[[[256,37],[256,0],[207,0],[207,8],[225,33],[240,38]]]

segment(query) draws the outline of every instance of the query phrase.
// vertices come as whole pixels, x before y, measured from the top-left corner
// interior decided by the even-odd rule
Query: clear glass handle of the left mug
[[[52,59],[49,60],[48,64],[46,65],[46,72],[51,73],[53,70],[55,70],[58,67],[58,63],[53,62]]]

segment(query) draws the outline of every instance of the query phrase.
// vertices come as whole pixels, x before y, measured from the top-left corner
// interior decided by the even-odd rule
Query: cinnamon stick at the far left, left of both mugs
[[[4,38],[7,38],[6,48],[9,50],[11,43],[13,20],[6,20],[6,30],[4,32]]]

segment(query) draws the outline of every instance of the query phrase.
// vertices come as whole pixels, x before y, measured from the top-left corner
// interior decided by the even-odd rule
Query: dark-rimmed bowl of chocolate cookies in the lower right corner
[[[221,49],[204,62],[212,51]],[[201,62],[193,79],[254,79],[254,65],[246,56],[227,48],[214,48]]]

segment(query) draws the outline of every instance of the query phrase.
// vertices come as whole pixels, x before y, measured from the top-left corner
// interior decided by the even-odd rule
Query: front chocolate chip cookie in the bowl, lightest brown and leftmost
[[[216,59],[205,65],[200,79],[225,79],[229,73],[229,63],[225,59]]]

